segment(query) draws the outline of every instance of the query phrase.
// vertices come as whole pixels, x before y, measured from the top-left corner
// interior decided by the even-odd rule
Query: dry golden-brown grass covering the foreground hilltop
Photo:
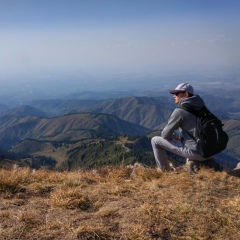
[[[240,178],[132,171],[0,170],[0,239],[240,239]]]

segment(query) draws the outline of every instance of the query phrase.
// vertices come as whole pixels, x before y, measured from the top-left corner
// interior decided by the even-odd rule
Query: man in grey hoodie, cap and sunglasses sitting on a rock
[[[193,87],[188,83],[179,84],[170,93],[174,95],[175,103],[179,106],[182,104],[185,106],[191,105],[194,109],[199,110],[205,105],[198,95],[194,95]],[[159,171],[175,170],[169,165],[166,151],[186,158],[186,165],[178,169],[185,169],[190,172],[196,172],[198,162],[207,159],[197,152],[196,140],[191,137],[197,138],[196,123],[194,114],[176,108],[164,127],[161,136],[152,138],[153,153]]]

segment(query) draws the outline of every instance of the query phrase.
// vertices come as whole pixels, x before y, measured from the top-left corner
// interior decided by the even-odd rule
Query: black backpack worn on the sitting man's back
[[[197,139],[189,132],[188,135],[197,141],[197,150],[204,158],[211,157],[222,152],[228,143],[228,135],[223,130],[223,123],[213,115],[205,106],[199,111],[187,104],[180,108],[194,114],[197,117]]]

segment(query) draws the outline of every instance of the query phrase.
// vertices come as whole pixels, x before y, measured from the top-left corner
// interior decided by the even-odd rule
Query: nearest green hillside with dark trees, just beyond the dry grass
[[[12,147],[8,154],[9,158],[28,162],[30,167],[39,168],[41,161],[42,166],[58,170],[133,164],[136,161],[148,166],[155,165],[151,141],[146,136],[105,135],[76,142],[25,139]]]

